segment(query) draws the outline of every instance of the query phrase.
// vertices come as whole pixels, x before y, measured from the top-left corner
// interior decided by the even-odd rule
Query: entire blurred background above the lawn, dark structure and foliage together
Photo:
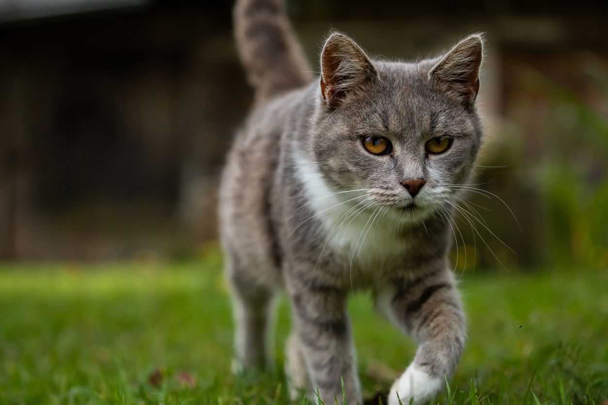
[[[180,259],[215,240],[219,172],[252,101],[231,9],[0,0],[2,259]],[[482,218],[478,233],[457,222],[459,267],[608,267],[607,2],[288,9],[313,69],[330,29],[403,59],[486,32],[474,183],[500,199],[469,194]]]

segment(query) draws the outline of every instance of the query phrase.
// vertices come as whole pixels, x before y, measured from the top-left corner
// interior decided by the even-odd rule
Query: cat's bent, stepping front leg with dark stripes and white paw
[[[417,342],[416,356],[390,389],[389,405],[427,403],[445,389],[465,344],[465,315],[451,273],[394,279],[379,291],[379,308]]]

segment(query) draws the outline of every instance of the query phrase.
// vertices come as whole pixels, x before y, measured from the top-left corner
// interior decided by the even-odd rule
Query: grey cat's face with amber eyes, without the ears
[[[368,209],[382,206],[404,220],[454,202],[455,185],[467,182],[480,146],[477,90],[466,102],[429,78],[439,61],[368,61],[374,80],[340,94],[339,105],[319,116],[310,150],[330,189],[357,190],[342,200],[365,194]]]

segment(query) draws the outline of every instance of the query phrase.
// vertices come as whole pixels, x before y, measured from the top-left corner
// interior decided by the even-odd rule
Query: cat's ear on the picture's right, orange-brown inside
[[[483,59],[483,35],[472,34],[454,46],[429,72],[429,78],[455,91],[466,106],[479,92],[479,68]]]

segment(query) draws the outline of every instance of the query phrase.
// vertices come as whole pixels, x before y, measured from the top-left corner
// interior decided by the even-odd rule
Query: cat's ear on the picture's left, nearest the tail
[[[378,77],[365,52],[348,36],[333,33],[321,52],[321,95],[330,107],[364,91]]]

